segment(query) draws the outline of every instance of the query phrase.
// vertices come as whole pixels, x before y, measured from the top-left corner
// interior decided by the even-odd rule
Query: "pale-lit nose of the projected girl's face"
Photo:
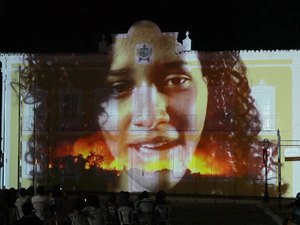
[[[167,99],[153,86],[138,87],[132,100],[133,129],[158,130],[170,121]]]

